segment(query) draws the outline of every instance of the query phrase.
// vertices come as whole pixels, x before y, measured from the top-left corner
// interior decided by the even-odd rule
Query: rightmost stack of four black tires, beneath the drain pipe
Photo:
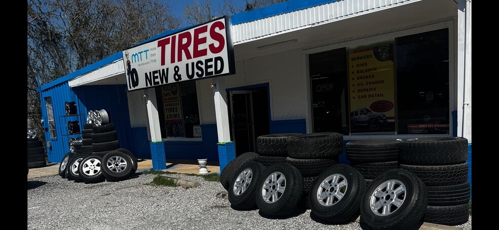
[[[424,221],[459,225],[469,219],[468,140],[425,137],[402,141],[400,168],[419,177],[428,191]]]

